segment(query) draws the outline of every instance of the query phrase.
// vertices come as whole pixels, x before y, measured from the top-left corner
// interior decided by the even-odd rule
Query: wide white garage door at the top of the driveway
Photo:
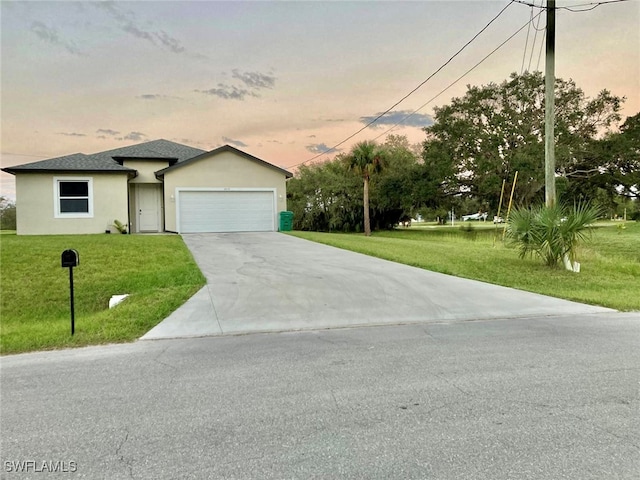
[[[271,232],[275,193],[270,191],[180,191],[180,233]]]

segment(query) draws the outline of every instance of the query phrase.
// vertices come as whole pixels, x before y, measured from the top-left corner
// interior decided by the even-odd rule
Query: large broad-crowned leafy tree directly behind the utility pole
[[[578,168],[576,159],[597,135],[619,121],[624,99],[603,90],[589,99],[572,80],[556,79],[556,165],[560,174]],[[544,194],[544,77],[512,74],[501,84],[467,87],[451,104],[435,109],[425,128],[423,158],[427,185],[440,201],[477,198],[497,210],[502,180],[518,184],[516,198],[528,205]]]

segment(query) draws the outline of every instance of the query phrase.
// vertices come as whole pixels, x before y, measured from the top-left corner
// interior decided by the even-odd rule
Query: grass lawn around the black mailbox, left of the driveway
[[[71,336],[69,269],[73,248],[75,335]],[[135,340],[204,284],[177,235],[69,235],[0,238],[2,354]],[[109,309],[112,295],[128,293]]]

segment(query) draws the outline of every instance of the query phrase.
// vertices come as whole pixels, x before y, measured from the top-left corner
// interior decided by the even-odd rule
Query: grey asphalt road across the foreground
[[[639,347],[602,313],[3,357],[0,475],[637,479]]]

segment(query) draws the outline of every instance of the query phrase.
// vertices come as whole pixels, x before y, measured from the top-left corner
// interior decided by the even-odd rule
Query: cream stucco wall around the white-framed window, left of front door
[[[54,178],[92,178],[93,216],[55,218]],[[16,175],[18,235],[104,233],[118,219],[128,221],[126,173],[18,173]],[[115,231],[115,230],[114,230]]]

